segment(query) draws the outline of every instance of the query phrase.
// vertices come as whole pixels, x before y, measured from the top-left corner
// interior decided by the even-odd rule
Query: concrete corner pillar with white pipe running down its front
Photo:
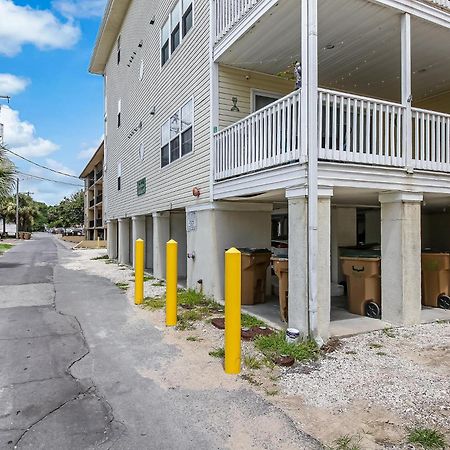
[[[308,200],[305,188],[286,191],[289,214],[289,326],[297,328],[303,336],[314,332],[317,338],[327,340],[330,325],[330,284],[331,284],[331,196],[332,189],[319,187],[318,217],[318,252],[317,273],[312,279],[317,280],[317,304],[311,302],[308,288],[311,279],[308,267]]]

